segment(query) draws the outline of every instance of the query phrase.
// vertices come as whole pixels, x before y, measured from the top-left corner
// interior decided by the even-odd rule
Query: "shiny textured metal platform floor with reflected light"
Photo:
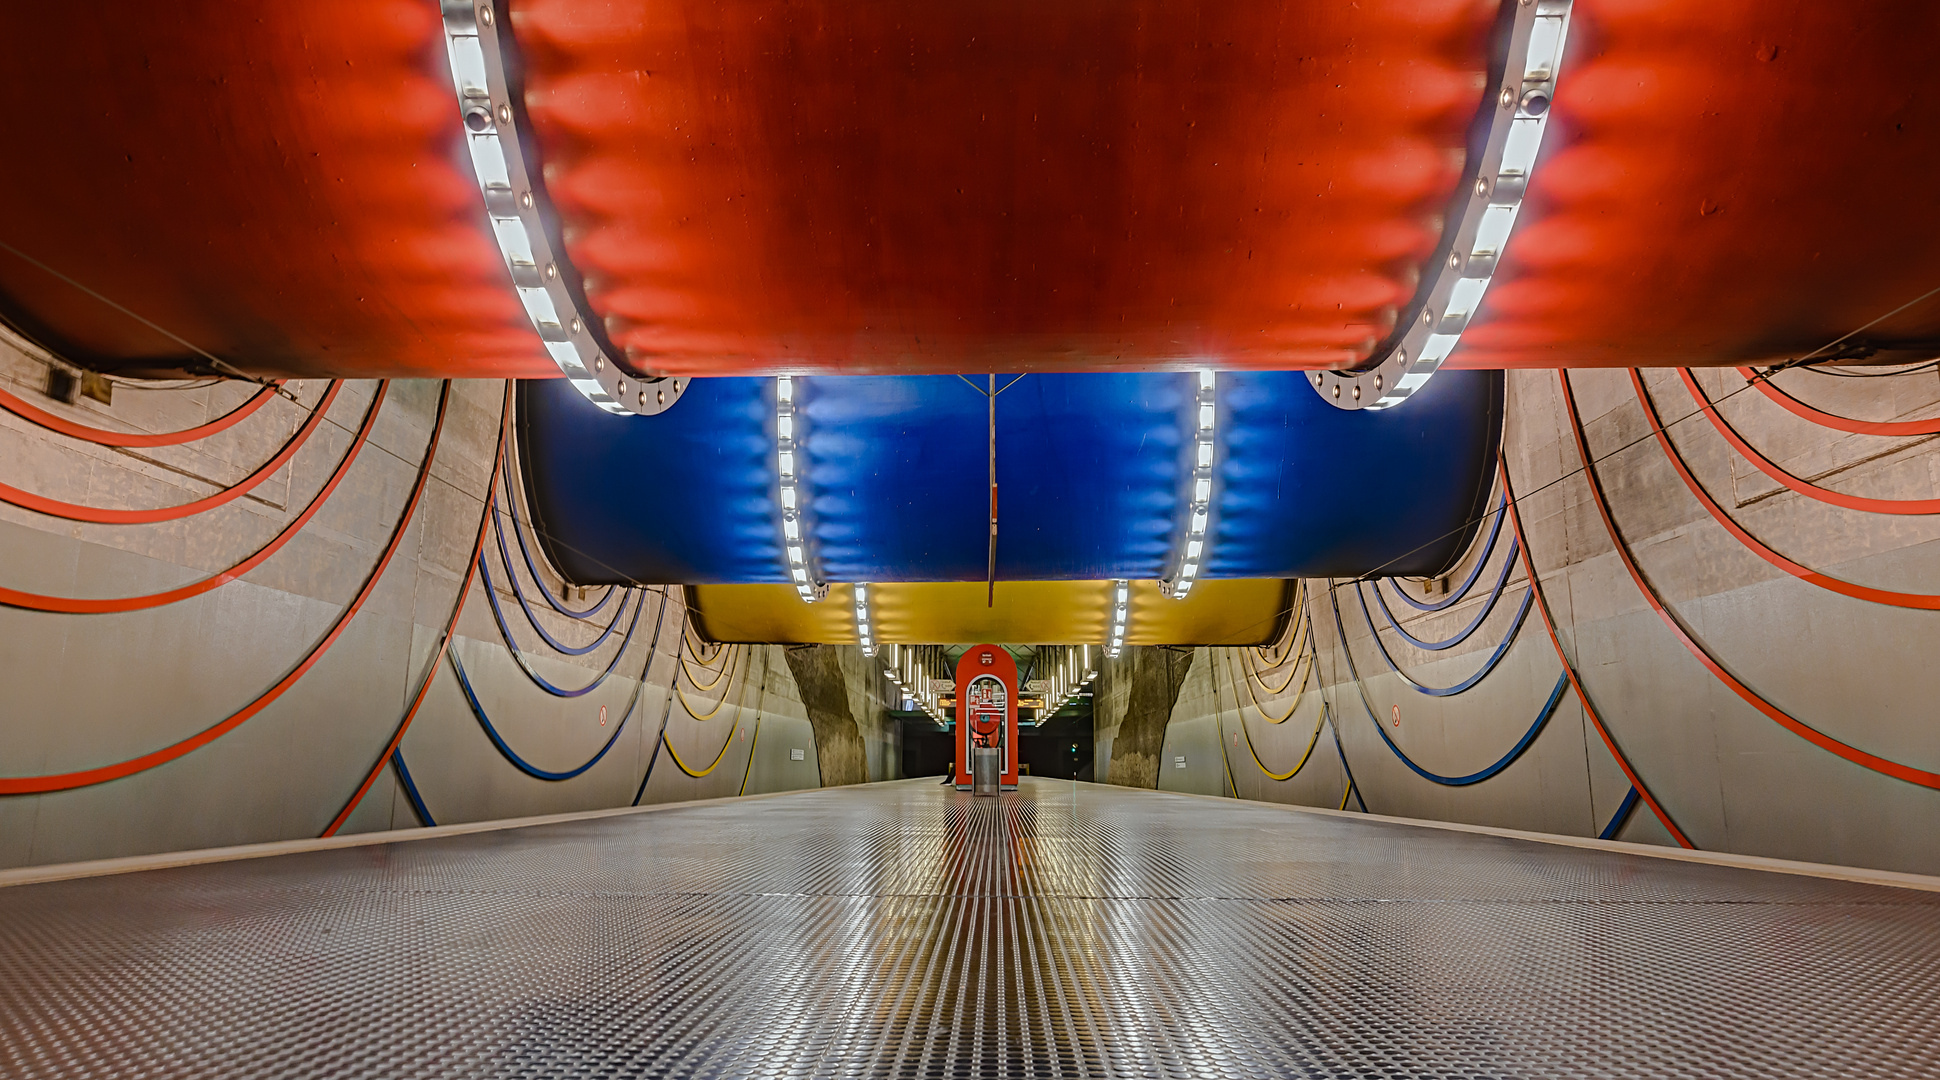
[[[906,781],[0,888],[0,1074],[1936,1076],[1940,896]]]

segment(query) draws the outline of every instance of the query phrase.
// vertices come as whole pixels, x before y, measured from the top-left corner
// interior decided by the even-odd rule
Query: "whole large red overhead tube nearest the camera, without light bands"
[[[677,374],[1341,366],[1406,310],[1490,2],[514,2],[613,345]],[[1577,0],[1455,366],[1800,353],[1940,281],[1940,10]],[[425,0],[0,14],[10,320],[78,361],[549,376]],[[1940,339],[1940,308],[1864,345]]]

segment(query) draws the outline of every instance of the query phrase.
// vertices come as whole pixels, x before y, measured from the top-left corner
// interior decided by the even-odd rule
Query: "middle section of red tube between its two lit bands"
[[[1416,289],[1498,4],[520,0],[594,308],[675,374],[1335,366]]]

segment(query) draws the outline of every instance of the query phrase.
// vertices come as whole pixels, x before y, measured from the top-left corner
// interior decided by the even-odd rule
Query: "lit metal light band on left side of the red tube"
[[[512,101],[506,81],[504,52],[510,43],[501,37],[502,19],[493,4],[442,0],[444,54],[452,64],[452,85],[458,91],[458,114],[464,122],[466,147],[471,151],[471,171],[485,194],[485,213],[491,217],[499,254],[512,271],[518,301],[526,306],[534,330],[588,401],[609,413],[654,415],[681,397],[691,380],[669,376],[634,376],[621,370],[596,335],[599,326],[572,287],[572,268],[553,252],[541,211],[543,190],[532,182],[534,169],[526,161],[514,122],[522,111]]]

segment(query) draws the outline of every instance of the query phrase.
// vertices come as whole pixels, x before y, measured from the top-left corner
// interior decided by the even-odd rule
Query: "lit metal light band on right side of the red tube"
[[[1490,101],[1488,143],[1467,178],[1467,196],[1443,233],[1445,258],[1418,310],[1379,363],[1358,372],[1313,372],[1321,399],[1342,409],[1389,409],[1406,401],[1449,359],[1507,248],[1529,176],[1542,147],[1556,70],[1569,37],[1571,0],[1504,0],[1515,8],[1509,62]]]

